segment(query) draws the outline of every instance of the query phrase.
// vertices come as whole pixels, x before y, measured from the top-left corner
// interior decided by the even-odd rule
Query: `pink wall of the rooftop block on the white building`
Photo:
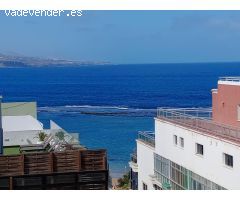
[[[218,84],[218,89],[212,90],[214,121],[240,127],[238,105],[240,106],[240,84]]]

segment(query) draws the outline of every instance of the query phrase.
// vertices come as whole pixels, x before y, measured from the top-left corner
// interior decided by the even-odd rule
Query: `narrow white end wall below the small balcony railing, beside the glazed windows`
[[[154,148],[137,140],[138,189],[143,189],[143,182],[148,190],[153,190],[153,183],[149,175],[154,174]]]

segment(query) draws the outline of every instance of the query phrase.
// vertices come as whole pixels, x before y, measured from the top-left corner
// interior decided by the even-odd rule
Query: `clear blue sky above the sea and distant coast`
[[[240,11],[0,14],[0,52],[112,63],[240,61]]]

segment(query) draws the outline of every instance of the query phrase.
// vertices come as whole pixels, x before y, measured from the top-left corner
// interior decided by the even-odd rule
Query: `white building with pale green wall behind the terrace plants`
[[[66,140],[79,144],[78,134],[69,134],[55,122],[50,121],[50,128],[45,129],[37,119],[35,102],[2,103],[3,146],[21,146],[41,143],[39,133],[46,135],[63,131]]]

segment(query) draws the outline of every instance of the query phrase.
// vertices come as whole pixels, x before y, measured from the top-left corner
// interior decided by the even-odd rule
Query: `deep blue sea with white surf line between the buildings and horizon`
[[[157,107],[209,107],[220,76],[240,63],[0,68],[4,101],[37,101],[38,118],[106,148],[112,176],[127,170],[139,130],[154,130]]]

